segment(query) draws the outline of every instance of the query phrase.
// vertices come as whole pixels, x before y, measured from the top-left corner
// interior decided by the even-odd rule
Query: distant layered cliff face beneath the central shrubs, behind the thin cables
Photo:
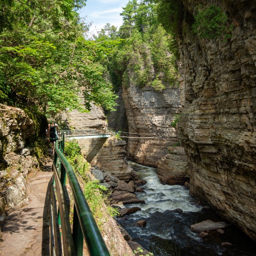
[[[157,160],[168,153],[168,146],[177,143],[177,134],[171,123],[175,114],[180,112],[180,90],[171,87],[160,92],[130,84],[130,87],[123,88],[122,98],[129,132],[143,134],[141,137],[159,137],[128,139],[128,158],[156,166]]]

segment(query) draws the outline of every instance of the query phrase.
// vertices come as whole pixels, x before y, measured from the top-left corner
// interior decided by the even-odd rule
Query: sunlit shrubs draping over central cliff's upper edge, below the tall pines
[[[169,38],[158,25],[153,34],[148,31],[142,35],[134,29],[131,38],[113,50],[111,68],[122,74],[119,79],[124,87],[132,83],[163,90],[177,81],[175,60],[169,50]]]

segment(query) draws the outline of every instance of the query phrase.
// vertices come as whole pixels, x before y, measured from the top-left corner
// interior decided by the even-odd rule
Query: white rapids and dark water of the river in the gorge
[[[118,219],[133,241],[154,256],[256,256],[256,243],[231,225],[224,228],[224,234],[214,230],[209,236],[199,238],[191,231],[190,225],[207,219],[223,220],[212,211],[202,210],[184,186],[161,184],[155,168],[129,163],[138,178],[147,181],[143,185],[145,193],[136,193],[146,204],[126,206],[138,206],[141,211]],[[172,212],[177,208],[183,212]],[[140,220],[147,222],[145,228],[134,226]],[[222,242],[230,242],[233,246],[223,247]]]

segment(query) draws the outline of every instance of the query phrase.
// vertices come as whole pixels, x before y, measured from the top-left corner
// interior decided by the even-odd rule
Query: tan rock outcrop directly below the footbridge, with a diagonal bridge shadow
[[[116,137],[80,139],[78,140],[81,153],[92,165],[99,166],[115,175],[120,180],[129,181],[134,175],[134,170],[126,160],[125,141]]]

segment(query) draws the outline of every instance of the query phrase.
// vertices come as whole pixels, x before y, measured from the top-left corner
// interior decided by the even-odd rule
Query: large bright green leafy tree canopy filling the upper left
[[[77,93],[113,110],[116,96],[105,79],[111,46],[84,38],[79,8],[85,0],[5,0],[0,3],[0,102],[49,116],[83,111]],[[113,43],[113,42],[112,42]]]

